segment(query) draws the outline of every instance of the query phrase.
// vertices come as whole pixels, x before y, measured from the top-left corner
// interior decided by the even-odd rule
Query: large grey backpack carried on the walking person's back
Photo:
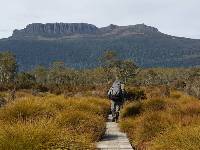
[[[112,87],[108,91],[108,98],[114,101],[121,100],[122,97],[122,89],[121,89],[121,82],[115,81]]]

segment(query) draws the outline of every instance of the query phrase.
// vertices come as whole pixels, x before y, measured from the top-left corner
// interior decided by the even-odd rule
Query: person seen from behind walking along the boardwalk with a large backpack
[[[120,108],[124,102],[124,84],[120,80],[115,80],[108,91],[108,98],[111,100],[112,121],[117,121]]]

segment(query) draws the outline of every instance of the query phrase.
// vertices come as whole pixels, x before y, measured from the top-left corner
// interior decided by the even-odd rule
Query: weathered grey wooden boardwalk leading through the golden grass
[[[111,121],[109,115],[106,123],[106,133],[103,139],[97,143],[99,150],[133,150],[127,136],[119,130],[118,123]]]

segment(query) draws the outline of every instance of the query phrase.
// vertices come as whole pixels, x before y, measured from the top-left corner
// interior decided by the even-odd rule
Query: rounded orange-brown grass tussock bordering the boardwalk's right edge
[[[171,119],[163,112],[149,112],[136,118],[122,119],[120,127],[130,137],[137,148],[143,143],[151,141],[171,127]]]

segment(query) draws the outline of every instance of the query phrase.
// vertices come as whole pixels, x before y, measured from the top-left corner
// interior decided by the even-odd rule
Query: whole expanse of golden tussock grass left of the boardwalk
[[[0,109],[0,149],[95,149],[109,105],[94,97],[17,99]]]

